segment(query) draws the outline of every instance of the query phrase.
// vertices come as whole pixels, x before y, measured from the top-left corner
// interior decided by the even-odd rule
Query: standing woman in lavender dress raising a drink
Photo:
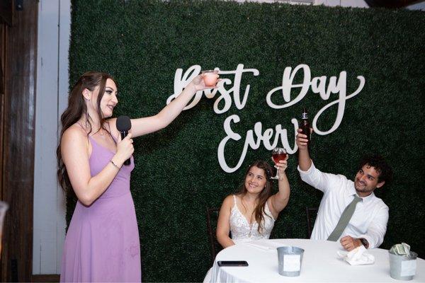
[[[111,76],[88,72],[79,78],[61,117],[57,175],[78,202],[67,231],[61,282],[140,282],[140,242],[130,192],[132,138],[169,125],[205,83],[196,76],[152,117],[131,120],[120,139],[113,108],[118,88]],[[123,163],[131,159],[130,166]]]

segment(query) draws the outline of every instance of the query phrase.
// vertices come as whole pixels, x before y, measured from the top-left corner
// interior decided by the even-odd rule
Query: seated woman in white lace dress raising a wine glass
[[[270,237],[279,212],[289,200],[287,160],[288,157],[276,164],[280,179],[275,195],[271,190],[271,166],[266,161],[256,161],[246,171],[239,192],[225,198],[217,221],[217,241],[223,248]],[[229,238],[229,231],[232,238]]]

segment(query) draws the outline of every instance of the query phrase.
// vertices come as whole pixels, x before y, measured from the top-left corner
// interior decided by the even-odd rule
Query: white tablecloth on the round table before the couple
[[[279,246],[305,250],[301,274],[285,277],[278,273]],[[373,265],[349,265],[336,254],[341,244],[308,239],[274,239],[241,243],[217,254],[211,282],[403,282],[390,277],[388,250],[367,250],[375,257]],[[248,267],[219,267],[219,260],[246,260]],[[425,260],[416,260],[416,275],[409,282],[425,282]]]

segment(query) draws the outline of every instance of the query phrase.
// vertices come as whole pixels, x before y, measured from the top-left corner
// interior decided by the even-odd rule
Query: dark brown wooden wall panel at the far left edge
[[[35,81],[38,3],[16,11],[1,1],[0,199],[8,203],[3,223],[1,282],[30,282],[33,267]],[[13,25],[10,25],[13,23]],[[1,238],[1,236],[0,236]]]

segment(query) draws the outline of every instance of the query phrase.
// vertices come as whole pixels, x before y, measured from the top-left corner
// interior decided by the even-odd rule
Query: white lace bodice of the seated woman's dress
[[[266,207],[264,208],[266,213],[264,214],[263,233],[259,233],[259,224],[254,222],[250,225],[244,214],[239,211],[236,204],[235,195],[233,195],[233,200],[234,205],[232,207],[232,211],[230,212],[230,232],[232,233],[232,240],[234,243],[269,238],[271,230],[274,226],[275,219],[273,219],[270,209],[268,209],[267,202]]]

